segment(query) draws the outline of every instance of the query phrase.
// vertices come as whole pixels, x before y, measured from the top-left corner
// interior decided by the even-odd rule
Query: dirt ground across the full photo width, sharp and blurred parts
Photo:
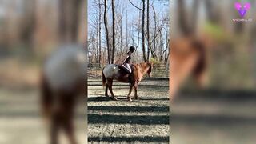
[[[164,80],[142,82],[138,90],[141,99],[133,102],[126,101],[127,84],[114,86],[114,94],[120,98],[114,102],[103,96],[100,79],[88,83],[89,143],[168,143],[169,131],[170,143],[256,142],[256,94],[236,94],[236,98],[181,95],[169,108]],[[0,88],[1,144],[48,143],[38,98],[38,90]],[[75,126],[78,143],[86,143],[85,101],[78,106]],[[63,134],[61,141],[67,143]]]

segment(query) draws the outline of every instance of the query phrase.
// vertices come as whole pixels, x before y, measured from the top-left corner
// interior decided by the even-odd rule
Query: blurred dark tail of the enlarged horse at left
[[[53,103],[53,96],[50,90],[50,85],[46,80],[46,77],[42,75],[41,83],[41,106],[42,106],[42,114],[44,117],[50,117],[51,107]]]

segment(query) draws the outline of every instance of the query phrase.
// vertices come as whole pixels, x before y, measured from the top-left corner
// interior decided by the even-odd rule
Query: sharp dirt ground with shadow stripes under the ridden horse
[[[145,79],[138,100],[129,85],[114,82],[118,101],[104,96],[101,79],[88,80],[89,143],[169,143],[168,79]]]

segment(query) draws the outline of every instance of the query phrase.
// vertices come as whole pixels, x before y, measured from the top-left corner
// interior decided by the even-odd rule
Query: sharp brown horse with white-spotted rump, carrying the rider
[[[110,94],[113,100],[118,100],[114,97],[114,93],[112,90],[113,81],[117,80],[118,82],[130,82],[130,90],[127,95],[127,99],[132,101],[130,98],[130,94],[134,88],[134,98],[138,99],[138,82],[142,81],[142,78],[145,74],[148,74],[151,77],[151,70],[153,64],[151,62],[141,62],[139,64],[130,65],[132,68],[132,77],[129,78],[129,74],[124,70],[122,66],[117,64],[109,64],[103,67],[102,69],[102,86],[106,86],[105,88],[105,96],[109,97],[108,90],[110,90]]]

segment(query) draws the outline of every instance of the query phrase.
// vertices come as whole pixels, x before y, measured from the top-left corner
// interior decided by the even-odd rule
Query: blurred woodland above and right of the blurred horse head
[[[250,2],[241,19],[234,2]],[[170,42],[182,35],[200,38],[210,55],[210,87],[219,90],[254,90],[256,85],[256,1],[170,1]],[[171,49],[171,47],[170,47]],[[171,51],[171,50],[170,50]]]

